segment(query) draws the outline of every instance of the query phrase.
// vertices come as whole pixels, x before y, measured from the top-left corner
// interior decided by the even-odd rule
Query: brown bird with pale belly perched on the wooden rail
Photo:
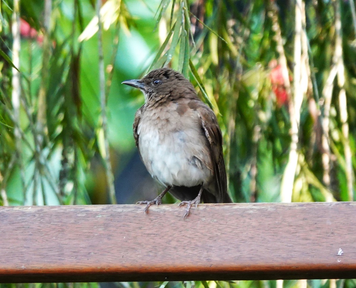
[[[168,191],[190,207],[231,203],[227,194],[221,130],[214,112],[193,85],[170,68],[151,71],[122,84],[141,89],[145,104],[137,110],[133,135],[143,164],[166,189],[146,204],[161,204]]]

